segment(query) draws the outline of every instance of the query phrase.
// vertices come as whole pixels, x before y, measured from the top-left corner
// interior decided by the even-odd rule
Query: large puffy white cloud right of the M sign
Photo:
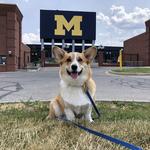
[[[120,29],[141,29],[144,22],[150,19],[150,9],[135,7],[131,12],[127,12],[124,6],[112,5],[109,16],[99,12],[97,20],[105,22]]]

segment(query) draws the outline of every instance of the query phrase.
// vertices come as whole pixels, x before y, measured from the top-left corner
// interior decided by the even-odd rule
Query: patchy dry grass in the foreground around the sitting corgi
[[[150,103],[100,102],[102,116],[84,125],[150,149]],[[57,120],[46,120],[48,103],[0,104],[1,150],[123,150]],[[95,114],[93,114],[95,116]]]

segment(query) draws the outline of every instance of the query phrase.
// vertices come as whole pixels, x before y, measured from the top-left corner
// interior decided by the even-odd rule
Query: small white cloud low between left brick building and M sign
[[[25,44],[39,43],[40,35],[35,33],[23,33],[22,41]]]

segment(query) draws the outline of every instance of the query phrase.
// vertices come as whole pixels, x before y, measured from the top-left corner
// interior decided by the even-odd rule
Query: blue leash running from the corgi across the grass
[[[93,99],[92,99],[92,97],[91,97],[91,95],[90,95],[90,93],[89,93],[88,90],[86,90],[86,95],[88,96],[88,98],[89,98],[89,100],[90,100],[90,102],[91,102],[93,108],[95,109],[95,112],[97,113],[98,117],[100,117],[100,113],[99,113],[99,111],[98,111],[98,109],[97,109],[97,107],[96,107],[96,105],[95,105],[95,103],[94,103],[94,101],[93,101]],[[126,148],[128,148],[128,149],[131,149],[131,150],[142,150],[141,147],[137,147],[137,146],[135,146],[135,145],[133,145],[133,144],[130,144],[130,143],[128,143],[128,142],[122,141],[122,140],[120,140],[120,139],[111,137],[111,136],[109,136],[109,135],[100,133],[100,132],[98,132],[98,131],[92,130],[92,129],[87,128],[87,127],[84,127],[84,126],[79,125],[79,124],[77,124],[77,123],[75,123],[75,122],[73,122],[73,121],[66,120],[66,119],[63,119],[63,121],[70,122],[70,123],[72,123],[73,125],[75,125],[76,127],[80,128],[80,129],[82,129],[82,130],[84,130],[84,131],[86,131],[86,132],[88,132],[88,133],[91,133],[91,134],[93,134],[93,135],[96,135],[96,136],[98,136],[98,137],[101,137],[101,138],[103,138],[103,139],[106,139],[106,140],[108,140],[108,141],[110,141],[110,142],[119,144],[119,145],[124,146],[124,147],[126,147]]]

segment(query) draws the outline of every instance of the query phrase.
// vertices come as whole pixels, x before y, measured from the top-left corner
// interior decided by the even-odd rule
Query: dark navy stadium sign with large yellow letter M
[[[40,11],[40,38],[44,42],[75,42],[82,40],[91,43],[95,40],[96,13],[79,11]]]

